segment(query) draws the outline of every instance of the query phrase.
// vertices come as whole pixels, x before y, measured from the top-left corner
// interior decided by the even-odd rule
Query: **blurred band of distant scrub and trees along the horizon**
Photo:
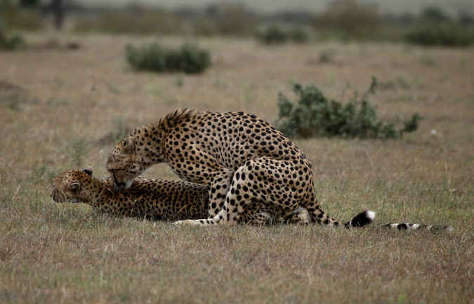
[[[44,29],[251,36],[265,43],[370,39],[464,46],[474,41],[472,0],[1,0],[0,12],[4,44],[9,32]]]

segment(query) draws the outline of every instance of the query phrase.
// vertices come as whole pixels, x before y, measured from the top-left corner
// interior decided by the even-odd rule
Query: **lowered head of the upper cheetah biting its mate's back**
[[[129,189],[133,180],[150,166],[138,153],[132,136],[120,140],[107,160],[107,170],[112,176],[114,192]]]

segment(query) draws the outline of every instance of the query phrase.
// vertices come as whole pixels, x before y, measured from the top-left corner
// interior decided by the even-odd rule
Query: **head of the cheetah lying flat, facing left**
[[[81,170],[66,171],[53,180],[53,191],[50,196],[57,203],[91,203],[91,178],[94,169],[86,167]]]

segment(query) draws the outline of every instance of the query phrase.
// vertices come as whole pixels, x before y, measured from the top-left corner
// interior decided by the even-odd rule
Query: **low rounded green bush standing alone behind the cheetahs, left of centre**
[[[201,73],[211,65],[209,51],[185,43],[178,49],[157,42],[140,47],[126,46],[126,59],[136,70]]]

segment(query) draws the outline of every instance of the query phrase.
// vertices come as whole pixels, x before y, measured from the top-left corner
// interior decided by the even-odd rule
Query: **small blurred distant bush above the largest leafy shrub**
[[[260,30],[257,32],[256,37],[263,44],[283,44],[288,41],[305,43],[309,40],[308,32],[301,27],[284,29],[284,27],[277,25]]]

